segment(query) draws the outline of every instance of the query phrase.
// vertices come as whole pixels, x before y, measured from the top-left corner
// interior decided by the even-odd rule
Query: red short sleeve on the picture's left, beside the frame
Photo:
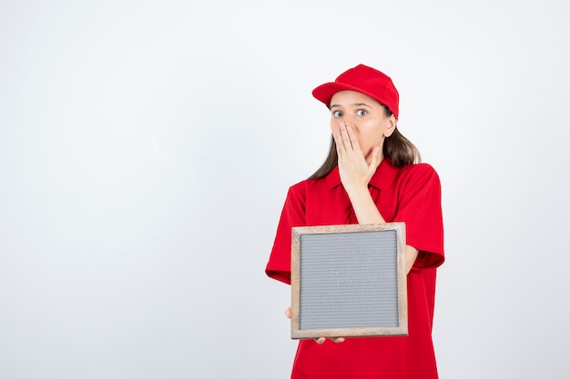
[[[291,228],[305,226],[305,195],[302,182],[290,187],[281,211],[280,222],[265,273],[290,284]]]

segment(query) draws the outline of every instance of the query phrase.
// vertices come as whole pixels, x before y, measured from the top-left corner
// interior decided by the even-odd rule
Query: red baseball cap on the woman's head
[[[386,105],[398,119],[400,96],[392,83],[392,79],[367,65],[357,65],[342,73],[334,82],[319,85],[312,90],[312,95],[329,106],[331,105],[332,95],[346,90],[371,96],[382,105]]]

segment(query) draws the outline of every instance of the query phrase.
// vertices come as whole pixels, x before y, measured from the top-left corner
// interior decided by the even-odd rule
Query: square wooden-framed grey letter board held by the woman
[[[291,232],[292,339],[408,334],[404,223]]]

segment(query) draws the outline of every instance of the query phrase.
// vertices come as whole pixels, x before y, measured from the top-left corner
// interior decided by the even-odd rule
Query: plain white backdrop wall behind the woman
[[[384,3],[384,4],[382,4]],[[287,378],[264,274],[372,65],[443,184],[442,378],[567,378],[570,26],[554,0],[0,3],[0,377]]]

